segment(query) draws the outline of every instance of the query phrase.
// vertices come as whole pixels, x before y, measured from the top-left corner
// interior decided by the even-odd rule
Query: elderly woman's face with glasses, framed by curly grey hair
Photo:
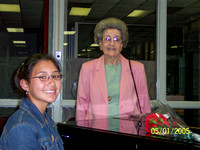
[[[121,32],[118,29],[107,29],[104,31],[103,40],[100,42],[100,49],[104,55],[117,57],[122,51]]]

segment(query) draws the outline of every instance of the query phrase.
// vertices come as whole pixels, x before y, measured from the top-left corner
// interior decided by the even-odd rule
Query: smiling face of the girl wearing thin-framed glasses
[[[54,78],[52,78],[52,75],[54,75]],[[26,83],[24,90],[28,91],[29,100],[39,109],[40,107],[46,108],[49,103],[56,100],[61,89],[61,80],[56,79],[59,75],[57,67],[51,61],[42,60],[33,67],[30,82],[21,80],[21,82]],[[42,77],[45,76],[49,79],[42,81]]]

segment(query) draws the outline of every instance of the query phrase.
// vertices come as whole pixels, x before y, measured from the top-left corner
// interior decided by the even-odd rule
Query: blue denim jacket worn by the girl
[[[0,138],[0,150],[63,150],[55,122],[44,117],[28,99],[7,121]]]

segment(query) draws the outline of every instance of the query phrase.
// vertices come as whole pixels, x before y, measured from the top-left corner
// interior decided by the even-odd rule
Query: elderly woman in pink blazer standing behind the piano
[[[96,25],[94,40],[103,55],[82,65],[76,120],[150,113],[143,64],[131,61],[132,76],[129,60],[120,54],[128,42],[127,30],[126,24],[117,18],[107,18]]]

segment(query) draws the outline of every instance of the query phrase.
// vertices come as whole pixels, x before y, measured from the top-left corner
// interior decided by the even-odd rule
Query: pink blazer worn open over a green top
[[[120,117],[139,114],[137,96],[134,89],[128,60],[120,54],[121,80],[119,96]],[[131,61],[142,113],[150,113],[144,65]],[[77,94],[76,120],[108,117],[108,93],[104,67],[104,55],[82,65]]]

